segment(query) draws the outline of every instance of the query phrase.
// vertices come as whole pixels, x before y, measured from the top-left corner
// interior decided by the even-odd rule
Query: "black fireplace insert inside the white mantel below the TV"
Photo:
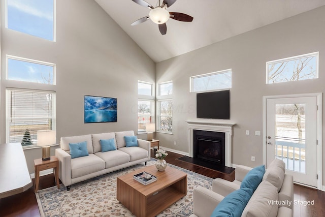
[[[225,134],[193,130],[193,158],[224,166]]]

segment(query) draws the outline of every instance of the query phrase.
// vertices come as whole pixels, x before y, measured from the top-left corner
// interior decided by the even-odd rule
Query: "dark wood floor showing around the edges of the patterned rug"
[[[151,154],[151,156],[153,156]],[[233,179],[234,174],[226,175],[211,169],[206,169],[200,166],[189,164],[176,160],[182,157],[182,155],[177,153],[169,152],[166,161],[170,164],[182,167],[187,170],[191,170],[202,175],[217,178],[223,177],[226,179]],[[4,178],[4,177],[2,177]],[[34,179],[33,179],[34,181]],[[40,177],[39,189],[45,189],[54,186],[54,175],[46,175]],[[294,207],[294,217],[298,216],[324,216],[325,217],[325,192],[308,189],[301,187],[300,185],[294,185],[295,191],[295,201],[315,201],[314,205],[295,205]],[[32,188],[28,189],[24,193],[13,195],[7,198],[0,199],[0,216],[13,216],[13,217],[23,217],[23,216],[41,216],[35,193]]]

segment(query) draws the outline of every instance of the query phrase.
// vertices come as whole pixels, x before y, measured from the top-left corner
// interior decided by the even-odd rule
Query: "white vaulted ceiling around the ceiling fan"
[[[169,19],[163,36],[151,20],[131,26],[150,9],[132,0],[95,1],[156,63],[325,5],[324,0],[177,0],[167,10],[194,19]],[[146,2],[155,7],[158,1]]]

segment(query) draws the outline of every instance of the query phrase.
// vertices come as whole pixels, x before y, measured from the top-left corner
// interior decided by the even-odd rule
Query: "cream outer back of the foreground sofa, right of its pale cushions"
[[[294,177],[289,174],[284,174],[283,183],[278,193],[279,201],[290,201],[291,204],[284,203],[285,207],[294,208]],[[282,206],[282,205],[281,205]]]

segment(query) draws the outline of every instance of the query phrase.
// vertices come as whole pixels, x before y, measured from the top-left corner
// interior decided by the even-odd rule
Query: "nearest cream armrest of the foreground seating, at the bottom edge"
[[[224,197],[199,186],[193,191],[193,214],[209,217]]]

